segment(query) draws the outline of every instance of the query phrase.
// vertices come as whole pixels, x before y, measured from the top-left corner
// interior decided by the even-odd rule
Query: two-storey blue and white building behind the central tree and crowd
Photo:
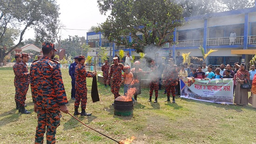
[[[206,53],[210,49],[217,49],[218,51],[211,53],[207,58],[207,63],[213,65],[248,63],[256,54],[256,7],[210,13],[185,20],[184,26],[175,28],[175,43],[163,46],[160,50],[161,54],[167,55],[171,51],[175,57],[178,51],[181,53],[191,51],[190,56],[202,57],[199,46],[202,46]],[[236,33],[234,45],[229,43],[231,32]],[[127,39],[132,41],[130,37]],[[108,47],[111,58],[118,54],[119,50],[129,51],[136,58],[139,56],[134,49],[109,43],[100,32],[88,32],[87,44],[93,48]],[[192,63],[200,64],[196,61]]]

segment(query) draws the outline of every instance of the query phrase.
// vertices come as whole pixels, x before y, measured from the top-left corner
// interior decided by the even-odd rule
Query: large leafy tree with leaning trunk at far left
[[[7,29],[20,29],[19,42],[9,49],[0,48],[0,63],[4,57],[20,46],[28,27],[35,30],[37,40],[54,42],[59,21],[59,6],[55,0],[1,0],[0,1],[0,44]],[[23,26],[22,26],[23,25]]]

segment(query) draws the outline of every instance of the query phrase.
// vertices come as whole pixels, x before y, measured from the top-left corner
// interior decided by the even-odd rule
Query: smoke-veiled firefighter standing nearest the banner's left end
[[[165,101],[170,101],[170,93],[172,93],[172,102],[175,103],[175,86],[179,81],[178,68],[174,65],[173,58],[170,58],[168,63],[163,72],[163,83],[167,90],[167,100]]]

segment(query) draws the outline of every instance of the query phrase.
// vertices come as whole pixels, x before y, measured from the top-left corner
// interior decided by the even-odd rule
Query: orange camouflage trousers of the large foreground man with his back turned
[[[60,125],[61,111],[59,107],[51,109],[37,109],[37,127],[35,132],[35,144],[43,144],[46,131],[47,144],[55,144],[55,133]]]

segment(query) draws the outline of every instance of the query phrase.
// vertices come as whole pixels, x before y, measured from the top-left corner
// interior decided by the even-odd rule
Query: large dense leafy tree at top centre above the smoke
[[[175,0],[97,0],[101,14],[110,10],[107,20],[99,25],[104,37],[117,45],[134,47],[144,52],[145,46],[160,48],[173,42],[175,27],[183,25],[182,7]],[[143,35],[143,38],[138,33]],[[133,42],[129,43],[127,37]],[[154,48],[156,51],[157,49]],[[148,53],[148,50],[145,51]]]

